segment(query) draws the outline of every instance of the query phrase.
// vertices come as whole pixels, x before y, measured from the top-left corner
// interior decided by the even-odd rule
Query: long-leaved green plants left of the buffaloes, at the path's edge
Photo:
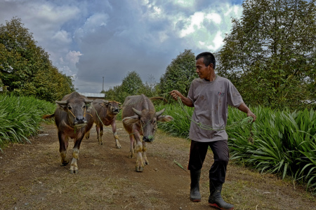
[[[37,134],[41,116],[53,113],[55,104],[34,97],[0,94],[0,151],[9,142],[29,142]]]

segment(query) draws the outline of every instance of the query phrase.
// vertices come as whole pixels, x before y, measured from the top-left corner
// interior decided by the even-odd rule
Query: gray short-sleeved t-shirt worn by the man
[[[242,96],[230,80],[220,76],[211,82],[196,78],[187,97],[195,106],[192,120],[196,122],[191,122],[189,138],[200,142],[228,139],[228,134],[223,130],[227,123],[228,104],[238,107],[243,103]],[[209,130],[209,127],[217,130]]]

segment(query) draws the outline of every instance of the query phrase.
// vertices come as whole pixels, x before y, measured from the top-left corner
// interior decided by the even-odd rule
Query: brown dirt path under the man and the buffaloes
[[[193,203],[190,174],[179,167],[187,167],[190,142],[158,132],[148,146],[150,165],[137,173],[136,158],[128,158],[129,137],[117,124],[122,148],[115,148],[110,132],[99,146],[93,126],[91,138],[81,144],[79,174],[69,174],[70,165],[60,167],[55,125],[44,125],[32,144],[6,148],[0,153],[0,209],[212,209],[211,153],[202,169],[202,202]],[[235,209],[316,209],[315,197],[303,188],[232,164],[223,197]]]

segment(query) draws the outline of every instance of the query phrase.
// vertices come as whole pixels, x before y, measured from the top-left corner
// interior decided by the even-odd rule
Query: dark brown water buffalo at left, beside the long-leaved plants
[[[70,166],[71,174],[78,172],[77,159],[79,158],[81,140],[93,125],[93,118],[90,113],[91,107],[88,106],[91,102],[93,100],[88,100],[88,98],[78,92],[67,94],[62,98],[62,101],[56,102],[58,107],[53,116],[58,128],[59,152],[62,165],[67,165],[69,162],[65,160],[68,138],[74,139],[72,163]]]

